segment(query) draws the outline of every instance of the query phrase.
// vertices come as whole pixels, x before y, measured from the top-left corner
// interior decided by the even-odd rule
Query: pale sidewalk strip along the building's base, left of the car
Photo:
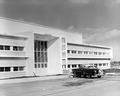
[[[54,75],[54,76],[2,79],[0,80],[0,84],[12,84],[12,83],[32,82],[32,81],[40,81],[40,80],[64,79],[68,77],[69,77],[68,75]]]

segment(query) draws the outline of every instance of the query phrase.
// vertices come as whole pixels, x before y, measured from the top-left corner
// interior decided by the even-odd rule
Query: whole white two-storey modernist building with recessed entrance
[[[63,74],[82,65],[110,67],[110,47],[83,44],[82,34],[0,18],[0,78]]]

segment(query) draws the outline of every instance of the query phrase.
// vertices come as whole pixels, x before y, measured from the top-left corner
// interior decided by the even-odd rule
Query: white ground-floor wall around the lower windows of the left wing
[[[0,59],[0,67],[11,67],[10,72],[0,72],[0,79],[25,76],[25,71],[12,71],[15,66],[24,66],[26,68],[26,61],[24,59]]]

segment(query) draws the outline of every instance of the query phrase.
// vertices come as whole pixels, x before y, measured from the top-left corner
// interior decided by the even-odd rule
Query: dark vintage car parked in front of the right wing
[[[101,76],[103,75],[104,75],[103,70],[98,69],[98,68],[81,67],[81,68],[72,69],[73,77],[101,78]]]

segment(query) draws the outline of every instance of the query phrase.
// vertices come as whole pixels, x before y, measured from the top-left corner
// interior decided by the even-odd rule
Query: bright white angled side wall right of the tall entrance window
[[[48,74],[62,74],[60,38],[48,41]]]

